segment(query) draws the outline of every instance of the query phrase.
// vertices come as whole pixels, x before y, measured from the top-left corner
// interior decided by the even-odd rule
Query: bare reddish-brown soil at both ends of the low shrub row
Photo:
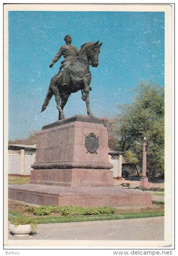
[[[20,201],[15,200],[8,200],[8,209],[13,210],[16,213],[22,214],[28,217],[36,217],[33,213],[26,213],[25,210],[29,206],[34,206],[35,208],[38,207],[37,205],[32,205],[28,203],[23,203]],[[164,205],[163,204],[152,204],[152,206],[137,206],[137,207],[115,207],[116,213],[115,214],[125,214],[125,213],[146,213],[146,212],[155,212],[155,211],[163,211]],[[49,216],[61,216],[58,213],[51,213]]]

